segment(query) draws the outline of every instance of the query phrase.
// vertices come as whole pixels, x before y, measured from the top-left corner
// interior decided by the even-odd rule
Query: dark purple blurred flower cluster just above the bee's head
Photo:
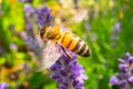
[[[52,16],[47,7],[37,9],[35,13],[40,27],[49,26],[51,23]]]

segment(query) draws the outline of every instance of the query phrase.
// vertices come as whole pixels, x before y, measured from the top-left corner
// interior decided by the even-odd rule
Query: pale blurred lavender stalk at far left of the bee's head
[[[32,8],[31,4],[25,3],[24,4],[24,21],[25,21],[27,33],[21,32],[21,37],[25,41],[28,49],[34,52],[35,55],[39,55],[40,53],[39,41],[38,39],[35,39],[34,33],[33,33],[33,26],[37,24],[35,17],[37,16],[35,16],[34,8]]]

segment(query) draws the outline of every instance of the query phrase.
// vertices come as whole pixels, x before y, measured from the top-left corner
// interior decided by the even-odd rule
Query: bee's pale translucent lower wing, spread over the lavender
[[[41,60],[39,62],[38,71],[49,69],[53,66],[57,60],[61,57],[61,52],[59,51],[57,43],[52,40],[47,42],[45,49],[42,49]]]

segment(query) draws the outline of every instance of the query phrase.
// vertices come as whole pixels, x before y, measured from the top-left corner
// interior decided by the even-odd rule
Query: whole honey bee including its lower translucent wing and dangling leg
[[[60,26],[42,27],[37,39],[41,41],[40,43],[47,43],[45,47],[42,47],[41,61],[38,65],[40,66],[39,71],[49,69],[62,56],[58,44],[68,59],[71,59],[71,56],[69,56],[65,49],[81,57],[90,56],[89,47],[84,41],[68,30],[63,31]]]

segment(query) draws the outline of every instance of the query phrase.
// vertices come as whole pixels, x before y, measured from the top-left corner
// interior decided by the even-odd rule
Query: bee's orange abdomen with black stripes
[[[82,57],[89,57],[90,56],[90,51],[88,46],[76,36],[72,34],[72,33],[64,33],[61,38],[60,43],[69,49],[70,51],[82,56]]]

